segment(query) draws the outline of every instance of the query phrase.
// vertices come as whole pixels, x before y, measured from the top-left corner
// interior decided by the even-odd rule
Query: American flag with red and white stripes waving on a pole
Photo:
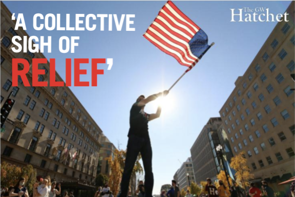
[[[191,70],[210,48],[206,33],[171,1],[159,11],[143,36]]]

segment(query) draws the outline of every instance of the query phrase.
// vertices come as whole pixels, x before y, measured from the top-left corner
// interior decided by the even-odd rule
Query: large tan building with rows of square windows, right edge
[[[220,110],[233,153],[245,152],[254,182],[294,176],[294,2],[286,12],[289,21],[276,25]]]

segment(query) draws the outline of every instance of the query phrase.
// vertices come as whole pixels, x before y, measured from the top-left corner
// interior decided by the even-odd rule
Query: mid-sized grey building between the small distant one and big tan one
[[[215,148],[220,144],[218,128],[221,125],[220,117],[212,117],[204,126],[191,148],[192,162],[197,183],[207,178],[216,180],[220,171],[219,161]]]

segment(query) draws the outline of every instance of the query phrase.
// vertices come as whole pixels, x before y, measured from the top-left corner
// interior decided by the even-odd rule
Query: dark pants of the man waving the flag
[[[152,171],[152,146],[149,138],[142,138],[130,135],[127,145],[127,155],[125,160],[124,172],[121,181],[120,197],[127,197],[129,190],[129,181],[138,154],[142,156],[144,167],[144,191],[145,197],[152,197],[154,187],[154,174]]]

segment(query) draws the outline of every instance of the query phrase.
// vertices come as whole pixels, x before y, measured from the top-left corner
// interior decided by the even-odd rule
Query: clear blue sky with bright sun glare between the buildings
[[[10,1],[4,2],[12,13],[23,13],[30,36],[52,36],[52,53],[45,56],[56,59],[56,70],[65,80],[66,58],[113,58],[114,65],[104,75],[98,76],[97,87],[71,87],[82,105],[92,115],[104,134],[117,146],[125,149],[129,130],[129,111],[141,94],[146,96],[168,89],[185,71],[185,67],[166,55],[142,34],[153,22],[163,1]],[[174,2],[209,37],[215,45],[196,67],[188,72],[166,97],[160,119],[149,123],[153,147],[154,194],[161,185],[171,183],[173,175],[191,155],[190,149],[199,132],[210,117],[219,116],[219,110],[234,89],[235,81],[243,75],[266,38],[277,24],[233,23],[230,8],[266,7],[273,14],[284,13],[289,1],[189,1]],[[65,27],[66,14],[71,14],[74,26],[75,14],[135,14],[136,31],[36,31],[33,15],[41,13],[61,14],[61,26]],[[95,23],[99,25],[99,21]],[[114,22],[113,22],[114,24]],[[85,23],[82,27],[85,27]],[[123,27],[125,26],[125,22]],[[75,53],[61,53],[58,40],[61,36],[80,36]],[[47,48],[46,48],[47,49]],[[91,64],[81,81],[91,81]],[[73,70],[73,69],[72,69]],[[154,113],[157,105],[151,103],[145,111]],[[179,160],[179,161],[178,161]]]

